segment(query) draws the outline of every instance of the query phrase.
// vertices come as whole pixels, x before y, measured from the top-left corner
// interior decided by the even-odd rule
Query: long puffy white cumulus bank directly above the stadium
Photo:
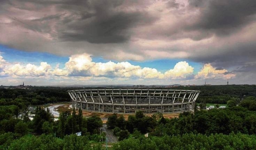
[[[155,68],[132,65],[129,62],[93,62],[90,55],[72,55],[65,63],[65,68],[71,76],[96,76],[96,77],[137,77],[137,78],[185,78],[194,70],[186,61],[178,62],[173,69],[161,73]]]

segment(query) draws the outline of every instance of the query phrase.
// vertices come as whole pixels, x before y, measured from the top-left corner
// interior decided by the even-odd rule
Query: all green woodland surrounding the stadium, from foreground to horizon
[[[137,112],[127,120],[110,115],[107,127],[118,136],[113,149],[131,150],[256,150],[256,86],[195,86],[173,89],[200,90],[197,103],[228,104],[225,109],[184,112],[164,118]],[[69,101],[69,88],[32,87],[0,89],[0,150],[102,149],[98,116],[85,118],[82,110],[66,111],[54,121],[49,110],[37,107],[29,119],[29,105]],[[119,117],[118,117],[119,116]],[[74,133],[82,131],[82,136]],[[144,134],[148,133],[148,138]]]

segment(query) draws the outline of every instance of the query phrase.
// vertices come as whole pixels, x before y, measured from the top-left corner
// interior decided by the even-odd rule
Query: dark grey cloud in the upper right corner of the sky
[[[191,0],[189,6],[200,11],[196,22],[187,27],[192,30],[226,35],[255,20],[255,0]]]

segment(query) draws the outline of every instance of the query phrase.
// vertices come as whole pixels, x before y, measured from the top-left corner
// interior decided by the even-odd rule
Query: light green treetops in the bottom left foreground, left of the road
[[[14,133],[0,134],[0,150],[101,150],[100,143],[92,143],[88,136],[71,134],[63,139],[53,135],[26,135],[16,138]]]

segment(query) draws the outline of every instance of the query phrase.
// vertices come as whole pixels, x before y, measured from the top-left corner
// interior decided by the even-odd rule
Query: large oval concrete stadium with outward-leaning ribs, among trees
[[[198,90],[90,89],[69,90],[72,106],[110,113],[194,112]]]

